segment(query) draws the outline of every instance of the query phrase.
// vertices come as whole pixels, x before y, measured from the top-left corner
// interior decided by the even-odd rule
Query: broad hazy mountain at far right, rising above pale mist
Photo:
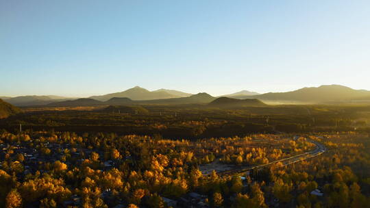
[[[318,88],[301,88],[291,92],[269,92],[254,96],[241,96],[240,98],[254,98],[261,101],[273,101],[281,103],[329,103],[351,101],[369,97],[370,92],[366,90],[354,90],[345,86],[330,85]]]

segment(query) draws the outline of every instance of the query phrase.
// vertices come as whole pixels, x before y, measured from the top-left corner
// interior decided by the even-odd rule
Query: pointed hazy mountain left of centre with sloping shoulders
[[[139,86],[136,86],[134,88],[125,90],[123,92],[116,92],[111,94],[105,94],[101,96],[90,96],[90,99],[95,99],[98,101],[108,101],[109,99],[112,99],[114,97],[119,98],[129,98],[134,101],[143,101],[143,100],[154,100],[154,99],[171,99],[176,98],[179,96],[175,96],[173,94],[169,94],[168,92],[159,91],[159,92],[150,92],[149,90],[146,90],[144,88],[140,88]]]

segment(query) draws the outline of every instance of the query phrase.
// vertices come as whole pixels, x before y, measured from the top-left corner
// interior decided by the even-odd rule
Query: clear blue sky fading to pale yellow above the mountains
[[[0,0],[0,96],[370,90],[370,1]]]

